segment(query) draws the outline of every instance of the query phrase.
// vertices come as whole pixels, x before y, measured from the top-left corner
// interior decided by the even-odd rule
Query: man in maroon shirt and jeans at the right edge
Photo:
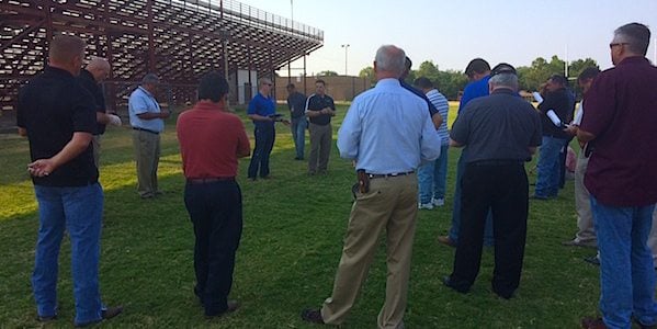
[[[584,328],[657,325],[655,270],[646,245],[657,202],[657,68],[645,58],[650,31],[631,23],[609,45],[615,68],[598,75],[577,133],[591,150],[585,185],[600,249],[602,318]]]

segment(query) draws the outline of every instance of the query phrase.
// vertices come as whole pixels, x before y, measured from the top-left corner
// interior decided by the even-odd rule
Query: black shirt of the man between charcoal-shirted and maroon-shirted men
[[[573,112],[575,112],[575,99],[568,94],[568,91],[565,88],[548,92],[543,102],[539,104],[539,110],[541,110],[543,136],[570,139],[570,135],[566,134],[560,127],[555,126],[550,117],[547,117],[547,112],[550,110],[554,110],[563,123],[569,123],[573,121]]]

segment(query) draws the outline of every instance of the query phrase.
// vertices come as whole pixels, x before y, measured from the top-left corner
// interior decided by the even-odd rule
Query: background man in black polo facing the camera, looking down
[[[325,93],[326,82],[315,81],[315,93],[306,102],[306,116],[310,120],[310,157],[308,157],[308,174],[327,173],[333,129],[331,116],[336,115],[333,99]]]

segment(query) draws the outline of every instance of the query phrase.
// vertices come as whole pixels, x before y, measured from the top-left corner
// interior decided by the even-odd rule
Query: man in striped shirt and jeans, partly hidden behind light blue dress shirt
[[[414,86],[420,89],[443,118],[437,129],[441,140],[440,157],[435,161],[429,161],[418,168],[419,182],[419,208],[432,209],[445,203],[445,183],[448,179],[448,148],[450,147],[450,135],[448,134],[448,113],[450,104],[448,99],[433,87],[431,80],[420,77],[415,80]]]

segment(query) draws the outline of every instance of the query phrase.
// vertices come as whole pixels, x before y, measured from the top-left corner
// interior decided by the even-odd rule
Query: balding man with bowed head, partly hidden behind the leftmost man
[[[78,81],[84,89],[87,89],[95,102],[95,131],[93,132],[93,138],[91,143],[93,145],[93,163],[100,169],[100,156],[101,156],[101,136],[105,133],[105,125],[112,124],[121,126],[121,118],[114,113],[107,113],[105,110],[105,95],[103,89],[99,83],[105,80],[112,68],[110,63],[100,57],[93,57],[91,61],[80,71]]]

